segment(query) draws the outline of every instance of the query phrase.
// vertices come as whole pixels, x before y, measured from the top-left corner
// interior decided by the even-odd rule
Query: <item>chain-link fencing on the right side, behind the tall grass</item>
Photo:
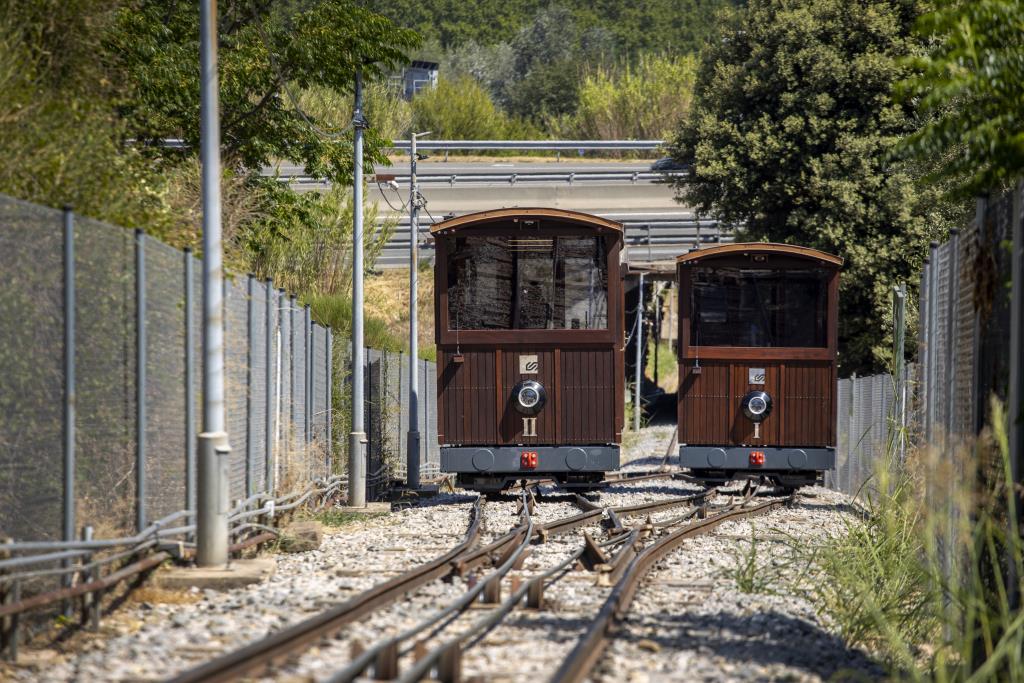
[[[929,509],[950,520],[939,541],[945,549],[956,545],[949,529],[957,517],[978,502],[996,506],[997,517],[1012,514],[998,509],[1008,507],[1006,497],[993,494],[1008,472],[1019,484],[1024,471],[1024,287],[1014,282],[1015,268],[1017,278],[1024,269],[1022,206],[1024,184],[979,200],[970,225],[932,243],[921,279],[918,362],[902,381],[880,375],[839,383],[837,469],[826,483],[869,495],[874,475],[902,464],[909,444]],[[994,436],[1004,427],[1008,453]]]

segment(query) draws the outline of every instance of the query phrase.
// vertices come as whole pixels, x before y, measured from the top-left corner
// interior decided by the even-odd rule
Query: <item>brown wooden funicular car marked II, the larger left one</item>
[[[593,486],[624,422],[622,225],[502,209],[431,232],[441,470],[483,492]]]

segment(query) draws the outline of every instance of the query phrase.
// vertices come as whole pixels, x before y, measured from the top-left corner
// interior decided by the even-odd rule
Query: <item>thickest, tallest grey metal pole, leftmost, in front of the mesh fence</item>
[[[203,164],[203,432],[199,436],[196,562],[227,564],[224,421],[224,302],[220,238],[220,119],[217,103],[217,3],[200,2],[200,156]]]

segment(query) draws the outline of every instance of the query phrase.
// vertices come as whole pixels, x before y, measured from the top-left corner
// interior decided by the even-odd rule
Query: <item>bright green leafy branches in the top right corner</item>
[[[958,195],[986,194],[1024,176],[1024,1],[938,5],[919,23],[930,49],[899,88],[926,121],[902,152]]]

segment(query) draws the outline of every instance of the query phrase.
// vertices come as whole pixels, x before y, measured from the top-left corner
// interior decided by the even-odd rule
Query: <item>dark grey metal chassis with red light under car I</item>
[[[764,454],[764,465],[751,465],[752,451]],[[815,483],[818,475],[836,468],[831,447],[772,447],[680,445],[679,465],[708,483],[735,478],[767,477],[781,486],[795,488]]]

